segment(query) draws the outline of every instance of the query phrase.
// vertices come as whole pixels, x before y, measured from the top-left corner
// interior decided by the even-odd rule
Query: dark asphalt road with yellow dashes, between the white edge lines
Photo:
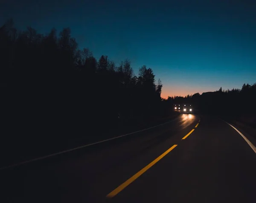
[[[224,121],[184,114],[142,132],[2,169],[0,202],[255,203],[252,148]]]

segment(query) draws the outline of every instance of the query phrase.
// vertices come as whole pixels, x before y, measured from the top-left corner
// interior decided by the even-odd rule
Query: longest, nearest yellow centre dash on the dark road
[[[166,152],[161,154],[159,157],[157,157],[154,161],[152,161],[150,164],[145,166],[143,169],[141,169],[139,172],[137,172],[135,175],[133,175],[131,178],[126,180],[122,185],[118,186],[116,189],[114,189],[111,193],[107,195],[107,197],[111,198],[117,195],[119,192],[121,192],[123,189],[125,189],[129,184],[131,184],[134,180],[139,178],[143,173],[145,173],[148,169],[150,169],[154,164],[156,164],[161,158],[163,158],[165,155],[167,155],[169,152],[172,151],[177,147],[177,144],[173,145],[171,148],[169,148]]]

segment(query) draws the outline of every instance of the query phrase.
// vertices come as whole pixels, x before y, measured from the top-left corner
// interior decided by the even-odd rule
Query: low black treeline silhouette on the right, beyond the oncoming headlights
[[[248,119],[256,126],[256,83],[244,84],[241,89],[195,93],[185,97],[174,96],[164,100],[168,104],[191,103],[200,113],[211,113],[235,119]]]

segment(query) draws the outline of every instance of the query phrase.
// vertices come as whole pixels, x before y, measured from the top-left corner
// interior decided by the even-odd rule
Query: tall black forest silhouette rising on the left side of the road
[[[128,59],[96,60],[70,28],[43,35],[17,31],[9,20],[0,27],[0,57],[1,108],[13,122],[97,130],[161,116],[163,85],[151,68],[135,76]]]

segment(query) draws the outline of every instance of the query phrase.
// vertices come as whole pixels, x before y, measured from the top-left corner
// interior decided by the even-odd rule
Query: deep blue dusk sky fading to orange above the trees
[[[1,0],[0,25],[70,27],[96,59],[152,68],[167,98],[255,83],[255,11],[253,0]]]

